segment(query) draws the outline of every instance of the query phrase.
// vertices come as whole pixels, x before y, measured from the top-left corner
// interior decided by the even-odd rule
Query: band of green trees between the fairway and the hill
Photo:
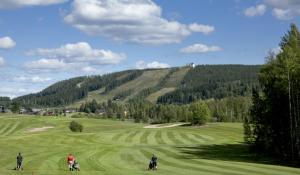
[[[210,121],[241,122],[247,118],[251,99],[247,97],[228,97],[224,99],[198,100],[191,104],[152,104],[143,100],[130,100],[128,103],[116,103],[109,100],[107,103],[97,103],[95,100],[82,104],[80,112],[98,113],[108,118],[133,119],[135,122],[169,123],[191,122],[201,124],[199,112],[196,108],[207,111]],[[199,120],[194,120],[200,117]],[[206,121],[205,119],[205,121]]]

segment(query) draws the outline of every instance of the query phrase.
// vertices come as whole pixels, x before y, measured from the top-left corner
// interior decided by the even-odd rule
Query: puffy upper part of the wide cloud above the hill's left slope
[[[110,50],[93,49],[86,42],[66,44],[54,49],[36,49],[28,55],[43,56],[47,59],[62,60],[65,63],[92,63],[95,65],[119,64],[126,58],[123,53],[114,53]]]

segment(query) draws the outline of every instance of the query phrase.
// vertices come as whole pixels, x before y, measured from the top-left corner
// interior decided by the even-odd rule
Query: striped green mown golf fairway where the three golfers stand
[[[257,160],[241,144],[242,124],[212,123],[205,127],[144,129],[142,124],[76,119],[83,133],[68,129],[68,118],[0,117],[0,174],[24,175],[296,175],[300,169]],[[53,127],[29,132],[34,128]],[[24,156],[24,171],[15,158]],[[69,172],[73,153],[81,171]],[[146,170],[152,154],[158,171]]]

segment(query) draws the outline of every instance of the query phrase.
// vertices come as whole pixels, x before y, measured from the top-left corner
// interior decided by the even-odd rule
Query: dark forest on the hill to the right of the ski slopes
[[[251,96],[258,88],[261,66],[199,65],[191,69],[181,87],[159,97],[158,103],[189,104],[198,99]]]

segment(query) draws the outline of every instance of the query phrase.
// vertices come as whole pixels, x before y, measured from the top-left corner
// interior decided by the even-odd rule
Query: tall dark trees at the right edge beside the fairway
[[[253,92],[245,141],[257,152],[300,163],[300,33],[292,24],[281,52],[270,53],[259,75],[262,93]]]

